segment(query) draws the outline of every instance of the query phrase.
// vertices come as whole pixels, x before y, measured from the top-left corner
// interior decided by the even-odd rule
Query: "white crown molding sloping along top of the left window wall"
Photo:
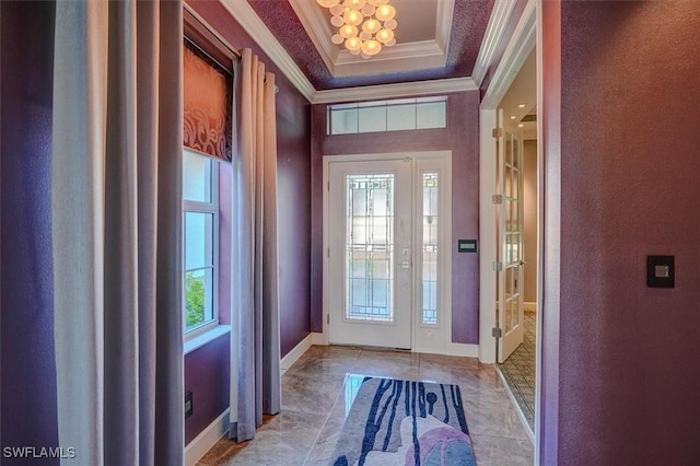
[[[282,48],[270,30],[255,13],[246,0],[221,0],[221,3],[231,15],[241,24],[250,37],[260,46],[262,51],[270,57],[272,62],[282,71],[290,82],[311,102],[316,89],[311,84],[306,75],[299,69],[294,60]]]

